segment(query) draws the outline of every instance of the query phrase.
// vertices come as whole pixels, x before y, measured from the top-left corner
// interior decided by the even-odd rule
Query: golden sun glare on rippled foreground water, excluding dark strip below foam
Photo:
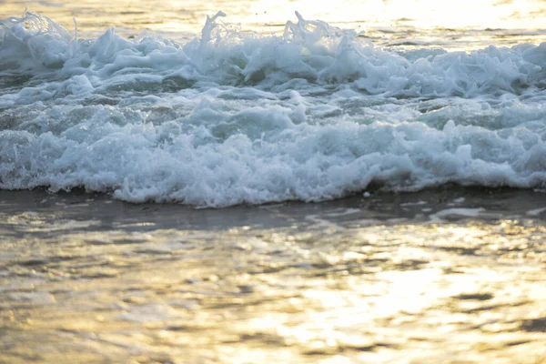
[[[26,352],[61,363],[537,363],[546,354],[541,319],[532,319],[546,315],[546,288],[537,285],[546,257],[533,255],[541,227],[127,235],[127,226],[74,234],[74,224],[51,227],[49,219],[10,220],[27,222],[33,234],[53,228],[56,238],[46,239],[40,263],[37,252],[20,250],[32,239],[6,251],[20,268],[4,298],[14,309],[0,319],[18,338],[46,338],[58,350],[9,349],[8,361]],[[39,288],[25,288],[28,274]],[[17,348],[12,339],[8,348]]]

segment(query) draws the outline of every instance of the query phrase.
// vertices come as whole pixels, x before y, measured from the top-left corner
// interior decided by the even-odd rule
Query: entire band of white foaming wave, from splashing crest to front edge
[[[187,44],[3,20],[0,188],[223,207],[544,187],[546,43],[394,52],[300,15],[283,36],[217,16]]]

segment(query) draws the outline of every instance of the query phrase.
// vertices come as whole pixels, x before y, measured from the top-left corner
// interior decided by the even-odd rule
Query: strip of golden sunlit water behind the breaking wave
[[[307,19],[354,29],[376,45],[467,50],[491,44],[541,43],[545,40],[546,18],[546,3],[534,0],[344,0],[319,6],[310,0],[61,0],[35,3],[29,10],[48,15],[69,29],[75,17],[82,36],[100,35],[107,27],[116,26],[117,32],[127,37],[152,31],[185,41],[199,35],[207,15],[219,10],[227,14],[225,23],[263,35],[282,35],[287,21],[296,21],[294,12],[298,11]],[[0,18],[23,11],[21,3],[8,0],[0,9]]]

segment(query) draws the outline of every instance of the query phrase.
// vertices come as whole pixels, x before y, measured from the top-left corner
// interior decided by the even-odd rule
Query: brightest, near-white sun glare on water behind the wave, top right
[[[536,1],[499,2],[492,0],[462,0],[439,2],[418,1],[354,1],[325,2],[317,6],[316,1],[278,1],[275,5],[266,0],[252,2],[242,20],[252,22],[268,19],[284,21],[298,11],[308,18],[317,18],[333,24],[362,24],[393,26],[399,23],[416,28],[467,28],[467,27],[508,27],[541,28],[543,17],[532,16],[546,6]],[[227,14],[228,10],[225,10]],[[241,15],[236,15],[241,16]],[[240,19],[240,18],[239,18]],[[255,21],[256,22],[256,21]]]

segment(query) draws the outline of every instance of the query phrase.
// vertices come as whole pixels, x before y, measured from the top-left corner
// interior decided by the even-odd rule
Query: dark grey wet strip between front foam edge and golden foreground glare
[[[138,218],[139,216],[157,218],[165,215],[164,224],[167,225],[173,222],[170,217],[175,213],[180,217],[202,215],[213,219],[221,217],[229,221],[232,216],[267,219],[270,217],[268,211],[271,210],[297,217],[314,214],[320,209],[329,211],[339,208],[359,209],[363,216],[374,217],[379,221],[407,218],[426,222],[431,216],[444,210],[453,210],[450,215],[452,218],[448,218],[449,221],[471,217],[464,213],[458,214],[454,208],[483,208],[484,211],[475,218],[484,220],[511,217],[543,219],[546,218],[546,193],[519,188],[450,185],[417,192],[394,193],[376,190],[321,202],[285,201],[216,208],[194,207],[178,203],[136,204],[118,200],[108,194],[86,192],[81,189],[57,193],[51,193],[45,189],[33,189],[0,190],[0,207],[4,214],[59,210],[60,216],[76,218],[86,218],[89,214],[120,218]],[[235,221],[232,223],[236,224]],[[274,219],[268,223],[277,224]]]

